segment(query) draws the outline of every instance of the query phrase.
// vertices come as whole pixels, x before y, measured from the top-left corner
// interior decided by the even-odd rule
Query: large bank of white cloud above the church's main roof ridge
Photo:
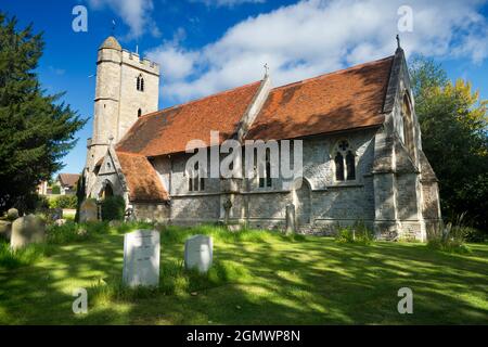
[[[149,52],[163,76],[163,95],[182,102],[262,78],[274,85],[391,55],[403,1],[300,1],[231,27],[198,51],[164,42]],[[488,56],[487,20],[478,0],[412,0],[413,33],[400,33],[407,55]],[[166,100],[168,101],[168,100]]]

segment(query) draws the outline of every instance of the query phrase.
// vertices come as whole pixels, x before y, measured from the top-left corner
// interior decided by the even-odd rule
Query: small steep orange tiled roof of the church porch
[[[130,201],[162,202],[168,200],[168,192],[145,156],[117,151],[117,157],[129,188]]]

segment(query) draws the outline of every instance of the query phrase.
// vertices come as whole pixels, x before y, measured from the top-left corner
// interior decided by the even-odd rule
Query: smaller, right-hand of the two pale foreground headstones
[[[184,243],[184,267],[205,273],[214,260],[214,243],[211,237],[194,235]]]

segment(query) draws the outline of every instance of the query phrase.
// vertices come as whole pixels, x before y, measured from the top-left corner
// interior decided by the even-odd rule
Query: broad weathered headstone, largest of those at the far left
[[[10,247],[18,249],[31,243],[42,242],[44,236],[46,227],[42,219],[34,215],[21,217],[12,223]]]

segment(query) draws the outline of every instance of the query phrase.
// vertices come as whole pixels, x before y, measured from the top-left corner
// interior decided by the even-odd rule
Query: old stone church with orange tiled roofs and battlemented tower
[[[395,54],[273,88],[262,80],[158,110],[159,66],[108,37],[98,51],[88,196],[120,195],[138,219],[226,221],[300,232],[362,221],[386,240],[425,241],[440,222],[436,176],[422,151],[407,62]],[[303,183],[194,178],[191,140],[303,140]],[[266,171],[267,172],[267,171]],[[266,174],[268,175],[268,172]]]

